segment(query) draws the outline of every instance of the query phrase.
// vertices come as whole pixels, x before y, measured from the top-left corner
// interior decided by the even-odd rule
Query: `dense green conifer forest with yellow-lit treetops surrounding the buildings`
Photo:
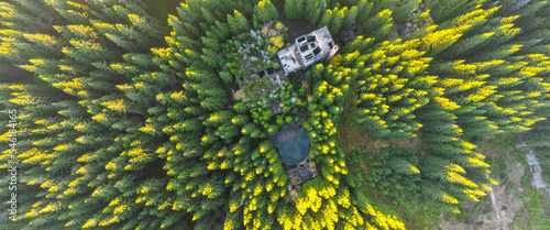
[[[393,207],[458,213],[496,184],[476,140],[550,147],[547,1],[174,2],[0,2],[7,229],[406,229]],[[323,26],[330,61],[253,77]],[[273,141],[290,124],[300,185]]]

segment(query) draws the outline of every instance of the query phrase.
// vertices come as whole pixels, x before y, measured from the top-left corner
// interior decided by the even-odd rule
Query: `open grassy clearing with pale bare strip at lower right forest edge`
[[[550,229],[543,227],[544,211],[550,210],[547,188],[531,187],[526,155],[528,147],[517,139],[488,138],[477,143],[481,153],[492,165],[490,177],[498,182],[479,202],[462,205],[462,213],[443,217],[441,229],[449,230],[508,230]]]

